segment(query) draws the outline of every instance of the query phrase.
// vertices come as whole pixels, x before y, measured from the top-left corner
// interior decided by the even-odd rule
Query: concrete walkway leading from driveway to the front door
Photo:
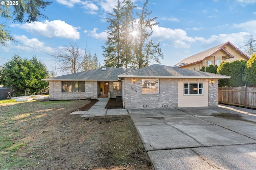
[[[108,115],[128,115],[127,109],[105,109],[108,104],[108,98],[98,98],[88,111],[85,111],[81,117],[108,116]]]

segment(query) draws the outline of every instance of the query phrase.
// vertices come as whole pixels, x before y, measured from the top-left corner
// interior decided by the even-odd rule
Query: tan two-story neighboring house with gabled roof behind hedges
[[[213,64],[215,66],[219,65],[222,61],[232,62],[240,59],[248,60],[250,57],[240,51],[232,43],[226,42],[183,59],[174,67],[199,71],[205,65],[209,66]]]

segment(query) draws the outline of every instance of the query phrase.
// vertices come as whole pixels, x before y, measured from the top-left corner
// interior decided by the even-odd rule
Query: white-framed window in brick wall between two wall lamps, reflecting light
[[[141,83],[142,94],[143,93],[159,93],[158,84],[159,84],[159,80],[143,79]]]

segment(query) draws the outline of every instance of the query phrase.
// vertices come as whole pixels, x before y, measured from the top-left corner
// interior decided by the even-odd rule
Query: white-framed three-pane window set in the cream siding
[[[204,94],[204,83],[184,83],[184,95]]]

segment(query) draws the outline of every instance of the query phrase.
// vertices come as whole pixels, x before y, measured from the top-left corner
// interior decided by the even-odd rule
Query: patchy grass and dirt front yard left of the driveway
[[[129,116],[69,115],[89,102],[0,102],[1,169],[153,170]]]

